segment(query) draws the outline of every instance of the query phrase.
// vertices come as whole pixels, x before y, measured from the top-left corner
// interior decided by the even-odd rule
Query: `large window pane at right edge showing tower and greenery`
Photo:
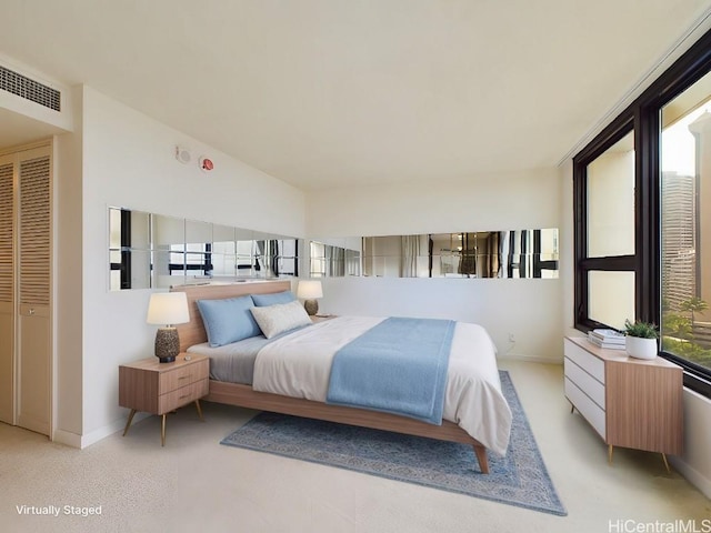
[[[661,124],[662,345],[711,369],[711,74]]]

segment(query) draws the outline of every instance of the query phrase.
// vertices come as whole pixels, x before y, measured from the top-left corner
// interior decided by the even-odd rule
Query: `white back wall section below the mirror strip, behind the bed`
[[[474,322],[500,358],[560,362],[560,294],[559,280],[331,278],[319,312]]]

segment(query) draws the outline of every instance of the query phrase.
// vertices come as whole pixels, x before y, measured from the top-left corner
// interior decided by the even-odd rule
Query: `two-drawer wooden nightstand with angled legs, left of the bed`
[[[210,360],[204,355],[181,353],[172,363],[157,358],[119,366],[119,405],[131,410],[123,436],[137,411],[162,416],[160,443],[166,445],[166,414],[194,402],[202,419],[200,399],[208,394]]]

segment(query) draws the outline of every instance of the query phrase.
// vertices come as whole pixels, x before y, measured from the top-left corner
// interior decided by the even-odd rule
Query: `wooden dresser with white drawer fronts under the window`
[[[565,338],[565,396],[609,446],[678,455],[683,451],[683,382],[680,366],[657,358]],[[669,467],[669,465],[667,465]]]

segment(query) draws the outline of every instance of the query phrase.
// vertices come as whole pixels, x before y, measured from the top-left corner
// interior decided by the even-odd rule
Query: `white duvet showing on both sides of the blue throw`
[[[257,355],[253,389],[326,402],[336,352],[382,320],[340,316],[271,342]],[[480,325],[457,323],[443,418],[458,424],[492,452],[505,453],[511,410],[501,393],[493,342]]]

